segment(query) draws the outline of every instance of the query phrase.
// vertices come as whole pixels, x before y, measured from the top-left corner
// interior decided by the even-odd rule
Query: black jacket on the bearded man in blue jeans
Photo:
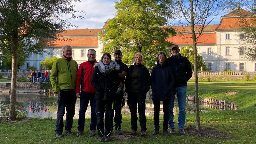
[[[167,61],[174,74],[174,87],[187,86],[188,80],[192,77],[192,68],[189,60],[180,55],[179,59],[170,57]]]

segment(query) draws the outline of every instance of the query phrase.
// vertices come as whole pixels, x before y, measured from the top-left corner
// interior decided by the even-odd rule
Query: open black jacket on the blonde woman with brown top
[[[126,78],[125,78],[125,92],[130,91],[133,67],[134,66],[131,65],[128,68],[128,73],[127,73]],[[140,78],[141,78],[142,92],[147,93],[150,89],[151,78],[150,78],[148,68],[146,68],[144,65],[142,65]]]

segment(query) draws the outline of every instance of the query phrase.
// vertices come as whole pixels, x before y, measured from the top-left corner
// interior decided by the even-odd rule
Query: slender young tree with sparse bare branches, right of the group
[[[227,4],[224,0],[170,0],[170,7],[179,25],[189,26],[191,37],[184,34],[184,38],[192,38],[194,52],[195,75],[195,103],[196,103],[196,130],[200,130],[199,100],[198,100],[198,76],[197,76],[197,51],[196,45],[204,28],[220,13]],[[177,23],[174,23],[176,25]],[[184,28],[185,29],[185,28]],[[182,33],[182,32],[181,32]]]

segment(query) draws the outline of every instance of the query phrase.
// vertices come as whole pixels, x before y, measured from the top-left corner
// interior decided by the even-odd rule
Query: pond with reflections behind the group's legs
[[[17,94],[16,105],[18,113],[27,113],[27,117],[57,117],[57,100],[58,97],[55,95],[47,94]],[[9,115],[9,105],[10,105],[10,95],[0,94],[0,116]],[[79,113],[80,99],[76,100],[76,113],[74,118],[78,118]],[[208,103],[200,104],[200,112],[208,112],[205,108],[215,108],[215,109],[228,109],[220,107],[220,105],[212,105]],[[186,107],[187,113],[195,112],[195,105],[192,101],[187,101]],[[90,117],[91,108],[90,103],[86,111],[86,117]],[[154,105],[152,100],[146,100],[146,115],[154,114]],[[174,105],[174,115],[178,114],[178,104],[175,102]],[[122,115],[130,115],[129,107],[125,103],[125,106],[122,108]],[[160,115],[163,115],[163,104],[160,104]],[[64,116],[65,118],[66,116]]]

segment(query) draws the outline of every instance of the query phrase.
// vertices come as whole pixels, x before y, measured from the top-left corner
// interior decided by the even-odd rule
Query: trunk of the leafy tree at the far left
[[[17,69],[18,69],[18,32],[14,32],[12,36],[12,80],[11,80],[11,94],[10,94],[10,109],[8,120],[16,120],[16,85],[17,85]]]

